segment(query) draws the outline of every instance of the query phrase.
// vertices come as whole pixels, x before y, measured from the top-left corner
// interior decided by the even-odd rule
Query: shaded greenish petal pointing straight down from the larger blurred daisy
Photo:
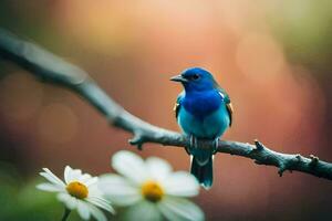
[[[155,203],[144,200],[128,208],[125,220],[160,221],[162,214]]]

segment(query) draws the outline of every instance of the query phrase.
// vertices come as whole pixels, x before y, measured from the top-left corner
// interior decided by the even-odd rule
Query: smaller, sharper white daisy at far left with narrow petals
[[[98,178],[82,173],[80,169],[66,166],[64,169],[64,182],[51,170],[43,168],[40,172],[49,182],[38,185],[37,188],[44,191],[58,192],[58,199],[70,210],[77,210],[83,220],[94,217],[97,221],[106,221],[105,214],[98,209],[114,212],[110,202],[104,199],[98,190]]]

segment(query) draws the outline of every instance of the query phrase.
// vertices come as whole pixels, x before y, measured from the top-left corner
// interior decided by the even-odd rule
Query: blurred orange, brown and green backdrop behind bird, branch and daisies
[[[332,161],[332,2],[329,0],[2,0],[0,27],[82,69],[143,119],[179,130],[173,105],[186,67],[211,71],[230,94],[224,139],[258,138],[277,151]],[[42,167],[112,171],[120,149],[189,168],[180,148],[145,145],[75,94],[0,59],[0,220],[56,220],[62,207],[34,190]],[[207,220],[332,220],[332,183],[215,158],[215,185],[195,201]],[[48,208],[48,209],[45,209]]]

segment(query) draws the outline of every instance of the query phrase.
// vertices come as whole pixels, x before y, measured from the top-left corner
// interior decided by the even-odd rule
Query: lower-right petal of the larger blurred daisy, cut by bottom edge
[[[167,220],[203,221],[204,212],[187,199],[168,197],[158,203],[158,208]]]

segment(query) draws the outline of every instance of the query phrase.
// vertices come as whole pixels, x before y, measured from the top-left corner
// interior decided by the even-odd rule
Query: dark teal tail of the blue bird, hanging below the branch
[[[209,156],[208,160],[201,164],[196,157],[191,158],[190,172],[205,189],[210,189],[214,182],[214,157]]]

